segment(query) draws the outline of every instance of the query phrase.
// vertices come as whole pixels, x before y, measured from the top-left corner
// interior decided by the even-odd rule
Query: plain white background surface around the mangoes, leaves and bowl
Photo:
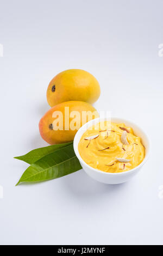
[[[0,1],[0,243],[163,244],[163,1]],[[28,164],[13,159],[47,145],[38,123],[58,72],[78,68],[101,84],[98,111],[149,134],[151,156],[135,178],[104,185],[83,170],[15,187]]]

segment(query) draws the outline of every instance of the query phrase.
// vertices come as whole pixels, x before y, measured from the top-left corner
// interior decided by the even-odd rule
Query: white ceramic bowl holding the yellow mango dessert
[[[134,169],[128,170],[127,172],[122,172],[122,173],[106,173],[106,172],[103,172],[102,170],[92,168],[87,163],[85,163],[84,160],[82,159],[82,157],[79,155],[78,144],[79,144],[80,138],[82,137],[83,133],[90,126],[95,125],[101,121],[106,121],[106,120],[110,120],[110,119],[96,118],[96,119],[93,119],[93,120],[87,122],[85,125],[83,125],[78,130],[78,132],[76,133],[76,136],[74,137],[73,147],[74,147],[74,151],[79,159],[81,166],[83,167],[84,171],[89,176],[91,176],[93,179],[95,179],[99,182],[103,182],[106,184],[120,184],[120,183],[126,182],[126,181],[130,180],[131,178],[133,178],[133,176],[135,176],[135,174],[137,174],[140,171],[143,164],[145,164],[145,162],[147,161],[148,155],[149,155],[149,139],[148,139],[147,134],[139,126],[132,123],[131,121],[128,121],[128,120],[122,119],[122,118],[111,118],[111,121],[114,123],[124,123],[126,126],[130,126],[133,128],[134,134],[136,136],[139,136],[141,138],[142,144],[145,145],[145,148],[146,148],[145,159],[141,162],[141,164],[139,164],[139,166],[135,167]]]

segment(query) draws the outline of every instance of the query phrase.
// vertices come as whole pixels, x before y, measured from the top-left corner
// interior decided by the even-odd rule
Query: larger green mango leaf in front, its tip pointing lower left
[[[43,156],[29,166],[21,176],[20,182],[36,182],[57,179],[82,169],[73,150],[73,144]]]

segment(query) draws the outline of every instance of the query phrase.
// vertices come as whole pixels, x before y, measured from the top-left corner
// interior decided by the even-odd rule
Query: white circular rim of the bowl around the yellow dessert
[[[106,121],[106,120],[111,120],[111,119],[119,119],[120,121],[122,121],[124,124],[125,122],[129,122],[131,125],[133,124],[133,130],[134,130],[134,126],[137,127],[138,130],[140,130],[143,135],[145,135],[146,137],[146,140],[147,140],[147,143],[148,143],[148,151],[146,152],[146,155],[145,155],[145,158],[143,159],[143,161],[138,165],[136,166],[135,168],[131,169],[131,170],[127,170],[126,172],[120,172],[120,173],[109,173],[109,172],[103,172],[102,170],[99,170],[99,169],[95,169],[91,166],[89,166],[89,164],[87,164],[83,159],[82,157],[80,156],[79,154],[79,151],[78,151],[78,144],[79,142],[77,143],[77,139],[78,139],[78,136],[79,136],[79,132],[80,130],[82,130],[84,127],[90,125],[91,123],[93,123],[93,121]],[[97,122],[98,123],[98,122]],[[91,125],[90,125],[91,126]],[[88,126],[89,127],[89,126]],[[87,127],[87,128],[88,128]],[[83,131],[83,133],[85,132],[85,130]],[[82,135],[83,135],[82,133]],[[80,136],[80,138],[82,137],[82,135]],[[80,138],[79,138],[79,141],[80,141]],[[86,166],[87,168],[93,170],[94,172],[96,173],[101,173],[102,175],[105,174],[105,175],[127,175],[129,173],[132,173],[132,172],[135,172],[136,169],[139,169],[141,166],[143,166],[143,164],[145,164],[145,162],[148,160],[148,157],[149,157],[149,151],[150,151],[150,145],[151,145],[151,142],[149,140],[149,136],[147,135],[147,133],[145,131],[143,131],[143,129],[140,128],[139,125],[133,123],[133,121],[130,121],[129,119],[124,119],[124,118],[119,118],[119,117],[111,117],[111,118],[102,118],[102,117],[98,117],[98,118],[95,118],[95,119],[92,119],[90,121],[88,121],[87,123],[85,123],[83,126],[80,127],[80,129],[77,131],[75,137],[74,137],[74,140],[73,140],[73,148],[74,148],[74,152],[78,158],[78,160],[84,165]]]

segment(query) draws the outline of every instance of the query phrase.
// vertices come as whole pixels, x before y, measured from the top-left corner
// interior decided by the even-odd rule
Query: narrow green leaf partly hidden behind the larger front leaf
[[[55,144],[52,146],[47,146],[47,147],[43,147],[43,148],[39,148],[39,149],[34,149],[34,150],[30,151],[29,153],[27,153],[26,155],[16,156],[14,158],[18,159],[18,160],[22,160],[26,163],[32,164],[32,163],[38,161],[39,159],[41,159],[43,156],[46,156],[49,153],[52,153],[58,149],[64,148],[67,145],[70,145],[72,143],[73,143],[73,141],[68,142],[68,143]]]

